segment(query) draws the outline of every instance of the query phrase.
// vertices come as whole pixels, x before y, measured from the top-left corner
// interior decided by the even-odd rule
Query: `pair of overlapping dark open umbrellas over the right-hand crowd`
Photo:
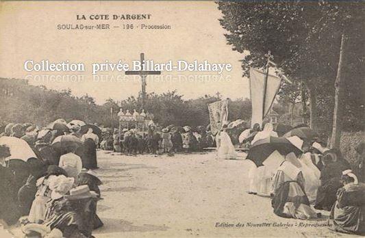
[[[299,127],[292,129],[282,137],[267,137],[257,140],[253,143],[247,154],[247,159],[253,161],[256,166],[263,166],[264,161],[277,150],[281,155],[285,156],[289,153],[300,155],[303,151],[290,142],[290,137],[299,137],[305,142],[312,142],[318,138],[318,134],[308,127]],[[289,138],[289,140],[288,140]]]

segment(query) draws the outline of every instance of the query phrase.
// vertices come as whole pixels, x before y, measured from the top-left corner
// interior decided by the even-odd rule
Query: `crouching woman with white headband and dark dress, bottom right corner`
[[[344,187],[337,191],[329,221],[336,231],[365,235],[365,184],[351,170],[342,172],[341,180]]]

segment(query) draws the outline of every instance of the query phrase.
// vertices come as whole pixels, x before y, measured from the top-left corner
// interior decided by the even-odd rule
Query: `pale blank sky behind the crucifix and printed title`
[[[91,64],[103,62],[131,63],[140,53],[155,62],[186,60],[230,63],[231,72],[222,75],[207,72],[162,72],[149,76],[147,92],[162,93],[177,90],[184,98],[221,92],[224,97],[249,97],[249,80],[242,77],[239,60],[242,55],[227,45],[225,31],[219,25],[221,12],[212,1],[145,1],[145,2],[1,2],[0,13],[0,77],[27,78],[33,85],[62,90],[71,88],[73,94],[89,94],[97,103],[106,99],[121,100],[136,96],[140,81],[125,77],[124,72],[99,72],[92,77]],[[76,15],[85,14],[151,14],[149,21],[77,21]],[[59,24],[110,24],[109,30],[58,30]],[[141,23],[171,25],[169,30],[123,29],[122,25]],[[115,26],[115,27],[114,27]],[[118,27],[117,27],[118,26]],[[23,69],[27,59],[39,62],[83,62],[86,72],[32,73]],[[51,80],[42,75],[64,76]],[[79,77],[75,77],[79,75]],[[81,76],[83,75],[83,76]],[[214,77],[201,77],[212,75]],[[76,79],[76,80],[75,80]]]

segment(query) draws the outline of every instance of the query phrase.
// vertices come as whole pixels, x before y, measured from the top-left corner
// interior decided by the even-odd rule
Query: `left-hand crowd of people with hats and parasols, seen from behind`
[[[79,121],[81,122],[81,121]],[[95,125],[8,124],[0,136],[0,222],[25,237],[92,237],[103,226]]]

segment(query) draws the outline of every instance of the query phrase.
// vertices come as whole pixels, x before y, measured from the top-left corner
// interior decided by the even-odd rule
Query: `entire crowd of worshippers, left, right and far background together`
[[[0,137],[0,220],[21,221],[28,237],[92,237],[92,230],[103,226],[97,216],[97,202],[102,199],[95,172],[98,147],[127,155],[173,155],[216,146],[218,158],[238,156],[227,124],[216,135],[203,127],[154,124],[146,133],[136,129],[97,133],[95,128],[62,119],[46,128],[8,124]],[[356,148],[360,163],[351,168],[340,150],[326,148],[318,138],[285,137],[296,150],[283,153],[275,146],[284,137],[270,123],[263,130],[255,124],[241,133],[248,157],[257,144],[277,138],[277,144],[267,147],[270,154],[262,164],[248,158],[252,163],[248,193],[269,197],[273,212],[281,217],[317,219],[322,214],[316,210],[330,211],[333,229],[364,234],[364,143]]]

